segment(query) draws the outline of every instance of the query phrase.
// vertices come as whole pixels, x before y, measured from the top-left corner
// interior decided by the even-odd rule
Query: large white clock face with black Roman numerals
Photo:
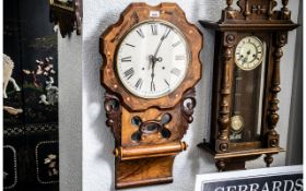
[[[143,98],[158,98],[179,86],[189,59],[188,44],[178,28],[164,21],[148,21],[123,37],[116,68],[129,92]]]

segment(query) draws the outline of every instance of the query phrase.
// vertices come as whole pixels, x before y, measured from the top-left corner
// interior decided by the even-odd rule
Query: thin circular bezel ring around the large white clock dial
[[[121,48],[122,46],[122,43],[123,40],[126,39],[126,37],[132,33],[134,29],[137,29],[139,26],[143,25],[143,24],[150,24],[150,23],[162,23],[168,27],[170,27],[173,31],[176,31],[177,34],[179,34],[180,38],[183,38],[183,40],[185,41],[185,45],[186,45],[186,52],[187,52],[187,65],[186,65],[186,70],[184,72],[184,75],[180,77],[180,80],[176,83],[176,85],[174,87],[172,87],[172,89],[169,89],[168,92],[165,92],[163,94],[156,94],[156,95],[143,95],[143,94],[139,94],[138,91],[133,89],[132,87],[130,87],[128,84],[125,84],[125,81],[126,79],[123,76],[121,76],[119,74],[119,69],[118,69],[118,51],[119,49]],[[115,60],[116,60],[116,63],[115,63],[115,71],[116,71],[116,75],[119,77],[120,80],[120,83],[123,85],[123,87],[131,94],[133,94],[134,96],[137,97],[141,97],[141,98],[146,98],[146,99],[152,99],[152,98],[161,98],[161,97],[164,97],[170,93],[173,93],[174,91],[176,91],[179,85],[183,83],[183,81],[186,79],[186,74],[188,73],[188,65],[190,64],[191,62],[191,51],[190,51],[190,46],[189,46],[189,41],[188,39],[186,38],[186,36],[184,35],[184,33],[174,24],[167,22],[167,21],[164,21],[164,20],[145,20],[145,21],[142,21],[140,23],[138,23],[137,25],[134,25],[133,27],[131,27],[123,36],[122,38],[120,39],[120,43],[119,43],[119,46],[117,47],[116,49],[116,55],[115,55]]]

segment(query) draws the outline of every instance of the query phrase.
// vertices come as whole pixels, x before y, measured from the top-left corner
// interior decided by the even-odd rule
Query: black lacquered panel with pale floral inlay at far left
[[[3,1],[4,190],[59,190],[58,50],[48,1]]]

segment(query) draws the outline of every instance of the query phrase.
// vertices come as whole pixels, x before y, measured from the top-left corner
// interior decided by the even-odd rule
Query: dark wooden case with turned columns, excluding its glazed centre
[[[219,170],[245,169],[247,160],[262,154],[266,154],[264,162],[269,167],[273,162],[272,155],[284,151],[279,146],[280,135],[276,132],[280,61],[289,31],[298,25],[291,21],[289,0],[282,0],[281,10],[274,10],[275,0],[238,0],[239,10],[232,8],[233,0],[226,0],[226,3],[219,22],[200,21],[203,27],[215,31],[215,53],[211,135],[209,141],[203,140],[198,146],[214,156]],[[257,36],[267,43],[263,98],[260,100],[263,103],[262,122],[257,141],[235,143],[229,140],[234,53],[237,43],[245,36]]]

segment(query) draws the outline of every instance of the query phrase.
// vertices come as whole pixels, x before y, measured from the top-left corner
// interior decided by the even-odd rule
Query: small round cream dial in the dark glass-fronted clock
[[[235,62],[242,70],[254,70],[263,60],[263,44],[255,36],[243,38],[235,51]]]

